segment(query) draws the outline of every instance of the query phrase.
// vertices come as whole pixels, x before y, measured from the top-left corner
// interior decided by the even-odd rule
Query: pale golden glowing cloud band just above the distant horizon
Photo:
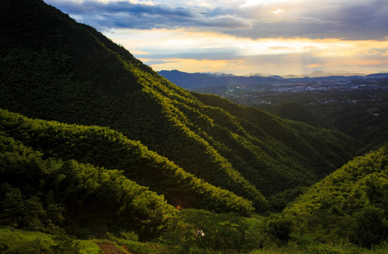
[[[105,35],[156,71],[224,72],[236,75],[309,71],[388,70],[387,41],[260,39],[197,30],[109,30]],[[152,64],[152,62],[157,64]]]

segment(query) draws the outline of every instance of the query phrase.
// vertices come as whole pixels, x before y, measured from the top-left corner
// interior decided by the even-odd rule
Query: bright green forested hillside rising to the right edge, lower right
[[[388,147],[356,157],[286,207],[301,234],[370,248],[388,240]]]

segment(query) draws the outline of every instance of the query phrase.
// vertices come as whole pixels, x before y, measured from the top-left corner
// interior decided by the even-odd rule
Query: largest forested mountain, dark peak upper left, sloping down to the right
[[[43,1],[1,1],[0,9],[1,108],[109,126],[256,210],[267,210],[262,194],[281,209],[360,145],[337,131],[183,90]]]

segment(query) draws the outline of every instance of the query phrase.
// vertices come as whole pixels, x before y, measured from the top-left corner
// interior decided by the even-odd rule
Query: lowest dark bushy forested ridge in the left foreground
[[[4,133],[0,140],[1,224],[49,232],[56,231],[54,224],[78,224],[99,232],[118,226],[152,238],[166,230],[176,212],[162,196],[126,179],[121,171],[42,159],[41,153]],[[39,181],[28,181],[37,175]],[[96,217],[105,226],[94,229]]]

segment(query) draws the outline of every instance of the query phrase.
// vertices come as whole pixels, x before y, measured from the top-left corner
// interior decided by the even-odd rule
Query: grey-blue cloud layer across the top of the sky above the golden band
[[[386,0],[47,0],[97,29],[197,28],[257,38],[384,40]]]

